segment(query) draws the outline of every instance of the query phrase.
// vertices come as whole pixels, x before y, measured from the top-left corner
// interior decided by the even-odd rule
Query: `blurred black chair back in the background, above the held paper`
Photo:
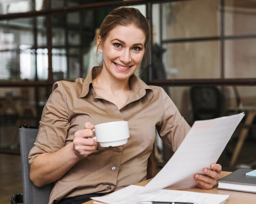
[[[221,94],[216,86],[193,86],[190,89],[193,121],[217,118],[221,114]]]

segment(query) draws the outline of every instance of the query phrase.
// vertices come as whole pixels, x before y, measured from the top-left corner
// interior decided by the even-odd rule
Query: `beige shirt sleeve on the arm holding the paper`
[[[189,132],[190,126],[181,116],[177,107],[164,89],[161,88],[161,91],[164,114],[158,132],[164,143],[173,151],[176,151]]]

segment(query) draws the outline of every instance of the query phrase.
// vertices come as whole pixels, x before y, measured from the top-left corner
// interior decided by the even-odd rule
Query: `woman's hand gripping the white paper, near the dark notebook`
[[[203,172],[206,175],[196,173],[194,179],[198,184],[197,187],[202,189],[212,189],[217,184],[217,180],[220,179],[221,165],[212,164],[211,169],[204,168]]]

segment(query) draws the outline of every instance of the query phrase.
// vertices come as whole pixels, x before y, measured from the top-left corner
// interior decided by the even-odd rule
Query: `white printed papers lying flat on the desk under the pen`
[[[220,204],[227,200],[229,195],[211,193],[196,193],[190,191],[176,191],[161,189],[154,192],[140,194],[143,186],[130,185],[124,189],[102,197],[92,197],[95,204],[136,204],[142,201],[158,202],[190,202],[197,204]]]

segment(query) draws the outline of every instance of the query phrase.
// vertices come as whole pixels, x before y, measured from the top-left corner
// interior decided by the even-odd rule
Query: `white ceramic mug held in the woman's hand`
[[[114,121],[94,126],[95,137],[101,147],[116,147],[127,143],[129,126],[127,121]]]

